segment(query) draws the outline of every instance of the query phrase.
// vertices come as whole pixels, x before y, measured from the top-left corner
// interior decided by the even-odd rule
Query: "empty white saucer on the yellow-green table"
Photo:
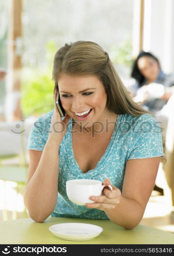
[[[49,231],[60,239],[84,241],[99,236],[103,228],[86,223],[61,223],[49,227]]]

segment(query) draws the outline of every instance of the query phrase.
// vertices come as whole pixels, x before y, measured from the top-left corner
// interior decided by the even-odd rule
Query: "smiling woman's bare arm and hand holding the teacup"
[[[115,224],[126,229],[135,228],[141,221],[148,199],[151,196],[160,163],[160,157],[128,160],[123,181],[122,193],[104,189],[104,196],[94,197],[88,208],[105,210]],[[110,184],[108,179],[105,185]]]

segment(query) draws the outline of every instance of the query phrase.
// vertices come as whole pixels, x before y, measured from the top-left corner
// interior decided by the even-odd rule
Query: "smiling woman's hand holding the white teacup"
[[[101,196],[91,196],[90,200],[94,201],[94,203],[87,203],[87,208],[108,211],[114,209],[116,204],[119,204],[121,191],[117,187],[113,186],[109,179],[105,179],[103,184],[106,186],[111,185],[112,190],[108,187],[104,187]]]

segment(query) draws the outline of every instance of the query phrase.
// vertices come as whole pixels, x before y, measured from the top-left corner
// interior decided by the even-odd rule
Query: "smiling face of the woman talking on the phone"
[[[58,80],[60,100],[66,113],[77,123],[91,126],[107,118],[107,94],[96,76],[62,74]]]

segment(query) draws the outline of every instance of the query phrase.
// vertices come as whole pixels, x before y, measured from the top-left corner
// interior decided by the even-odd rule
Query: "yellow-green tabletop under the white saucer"
[[[87,241],[62,240],[48,230],[49,226],[65,222],[94,224],[104,230]],[[174,234],[143,225],[126,230],[109,220],[48,218],[36,223],[32,219],[18,219],[0,222],[0,244],[174,244]]]

